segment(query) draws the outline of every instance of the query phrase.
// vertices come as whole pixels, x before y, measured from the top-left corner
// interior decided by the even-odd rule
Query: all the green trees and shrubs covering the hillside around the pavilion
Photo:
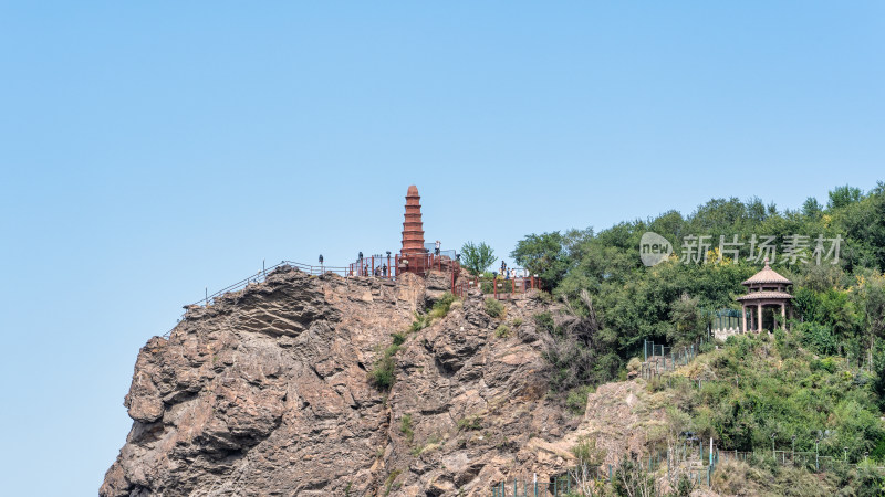
[[[650,267],[638,256],[646,232],[674,245]],[[784,254],[794,235],[806,245]],[[685,261],[684,241],[697,240],[687,236],[709,236],[697,261]],[[737,241],[725,245],[737,253],[721,251],[720,236]],[[759,251],[768,236],[773,254]],[[822,253],[814,252],[819,236]],[[674,378],[649,381],[668,425],[649,435],[648,450],[693,432],[720,451],[751,454],[716,472],[715,489],[727,494],[885,491],[877,469],[885,465],[885,183],[868,192],[840,187],[825,205],[810,198],[798,210],[714,199],[687,216],[669,211],[600,232],[531,234],[511,255],[564,303],[561,316],[535,319],[549,335],[551,389],[570,408],[594,385],[624,379],[645,340],[681,346],[706,336],[717,310],[740,309],[741,282],[773,255],[772,268],[794,282],[789,331],[729,338]],[[815,442],[826,462],[820,474],[808,458],[784,465],[772,456],[772,443],[815,454]]]

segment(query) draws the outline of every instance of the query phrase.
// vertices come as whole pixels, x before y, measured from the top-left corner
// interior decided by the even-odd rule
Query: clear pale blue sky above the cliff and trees
[[[885,3],[0,2],[0,494],[95,495],[139,347],[281,260],[885,179]],[[594,4],[595,3],[595,4]]]

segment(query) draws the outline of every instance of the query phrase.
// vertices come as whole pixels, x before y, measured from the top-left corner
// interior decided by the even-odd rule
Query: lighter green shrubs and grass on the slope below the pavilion
[[[720,452],[738,451],[746,464],[715,473],[712,487],[723,494],[882,495],[885,431],[874,374],[816,356],[798,338],[730,337],[670,378],[649,381],[668,421],[652,448],[691,432],[705,444],[714,438]]]

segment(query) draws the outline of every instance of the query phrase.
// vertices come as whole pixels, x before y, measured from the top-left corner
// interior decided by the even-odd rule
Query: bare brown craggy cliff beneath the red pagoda
[[[283,267],[189,308],[138,355],[124,402],[133,427],[100,494],[488,495],[504,477],[562,473],[555,441],[581,420],[546,400],[537,295],[506,304],[502,319],[479,294],[456,302],[407,335],[389,391],[368,382],[426,286]]]

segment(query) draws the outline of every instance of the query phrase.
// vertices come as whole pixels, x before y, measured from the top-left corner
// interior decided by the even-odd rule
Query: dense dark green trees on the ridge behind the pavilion
[[[668,260],[652,267],[644,266],[638,256],[646,232],[663,235],[674,246]],[[796,257],[782,252],[792,235],[808,236],[809,246]],[[696,254],[699,262],[681,260],[688,255],[683,246],[690,240],[686,236],[709,236],[705,239],[707,250]],[[720,236],[725,243],[721,251]],[[867,193],[836,188],[825,208],[815,199],[805,201],[800,210],[785,211],[758,198],[746,202],[714,199],[688,216],[669,211],[598,233],[587,229],[530,234],[511,256],[539,274],[554,295],[569,299],[579,314],[590,311],[580,298],[582,292],[589,293],[598,320],[594,332],[603,334],[594,340],[600,348],[596,352],[616,360],[617,371],[628,358],[641,355],[644,340],[690,342],[704,332],[712,313],[739,308],[735,298],[745,292],[740,282],[758,272],[763,262],[758,243],[751,242],[763,236],[774,236],[772,267],[795,282],[793,326],[806,337],[803,346],[878,368],[872,352],[885,348],[878,345],[885,338],[882,182]],[[837,261],[835,254],[824,252],[816,254],[821,256],[816,263],[818,236],[840,239]],[[728,245],[736,240],[742,245]],[[825,248],[832,245],[827,243]],[[600,380],[605,379],[593,379]],[[882,383],[885,391],[885,381]]]

